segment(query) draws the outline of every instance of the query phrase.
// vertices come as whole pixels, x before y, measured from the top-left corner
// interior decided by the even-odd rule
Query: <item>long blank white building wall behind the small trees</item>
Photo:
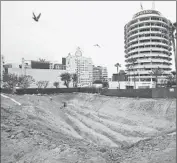
[[[63,81],[61,81],[60,75],[65,73],[66,70],[54,70],[54,69],[25,69],[26,75],[31,75],[35,82],[40,80],[49,81],[48,88],[53,88],[53,83],[58,81],[61,88],[66,88]],[[20,68],[9,68],[8,73],[15,73],[17,75],[22,75],[22,69]],[[37,88],[36,84],[31,84],[32,88]],[[70,83],[70,87],[73,87],[73,83]]]

